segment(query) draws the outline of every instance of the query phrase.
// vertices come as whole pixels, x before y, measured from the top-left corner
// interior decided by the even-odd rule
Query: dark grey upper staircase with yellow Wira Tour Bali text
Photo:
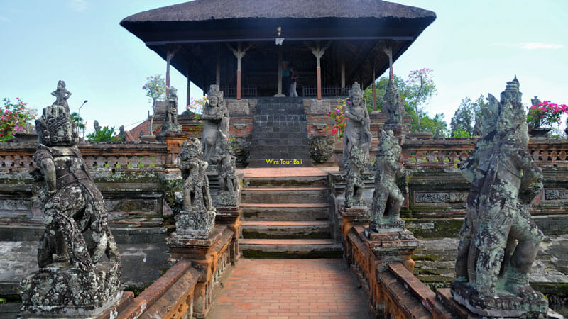
[[[311,167],[302,98],[260,98],[249,167]]]

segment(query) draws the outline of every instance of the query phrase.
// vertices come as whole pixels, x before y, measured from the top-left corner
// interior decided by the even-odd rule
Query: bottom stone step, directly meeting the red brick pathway
[[[248,258],[341,258],[339,243],[330,239],[239,239]]]

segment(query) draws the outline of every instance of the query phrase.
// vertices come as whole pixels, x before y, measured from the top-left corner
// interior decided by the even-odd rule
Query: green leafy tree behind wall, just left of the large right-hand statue
[[[471,101],[467,96],[465,99],[462,99],[450,122],[452,138],[480,136],[482,133],[481,114],[487,106],[488,103],[486,103],[484,96],[479,96],[475,102]],[[464,132],[459,133],[459,130]],[[467,133],[469,136],[461,136],[464,133]]]

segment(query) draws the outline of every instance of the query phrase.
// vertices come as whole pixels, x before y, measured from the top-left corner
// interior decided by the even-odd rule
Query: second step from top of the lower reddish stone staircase
[[[254,187],[241,191],[241,203],[326,203],[325,187]]]

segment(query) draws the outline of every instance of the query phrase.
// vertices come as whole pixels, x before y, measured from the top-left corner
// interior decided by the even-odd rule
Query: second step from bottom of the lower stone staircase
[[[266,239],[316,239],[331,238],[327,221],[267,221],[244,220],[241,222],[244,238]]]

